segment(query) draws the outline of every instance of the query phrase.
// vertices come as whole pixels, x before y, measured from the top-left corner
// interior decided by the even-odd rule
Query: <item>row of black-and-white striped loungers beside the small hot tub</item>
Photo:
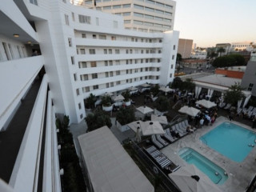
[[[154,158],[154,161],[158,163],[158,165],[163,169],[166,166],[170,166],[171,164],[174,164],[170,161],[169,158],[166,157],[166,155],[162,154],[161,151],[157,150],[155,146],[150,146],[149,148],[144,148],[148,154],[152,158]],[[177,166],[174,165],[174,169],[177,169]]]

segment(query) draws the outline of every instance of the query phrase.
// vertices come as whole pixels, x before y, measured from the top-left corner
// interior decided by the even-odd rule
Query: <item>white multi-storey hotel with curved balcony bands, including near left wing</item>
[[[67,0],[2,0],[0,22],[0,178],[14,191],[61,190],[56,114],[81,122],[90,93],[174,79],[178,31],[125,30]]]

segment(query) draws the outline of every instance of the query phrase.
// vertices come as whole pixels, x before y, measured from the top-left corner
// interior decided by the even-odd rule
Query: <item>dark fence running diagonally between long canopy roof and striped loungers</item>
[[[166,174],[162,172],[162,170],[144,153],[144,151],[135,143],[131,141],[131,146],[138,156],[138,158],[143,162],[148,170],[154,175],[158,175],[160,178],[162,186],[170,192],[181,192],[178,190],[178,187],[170,180]]]

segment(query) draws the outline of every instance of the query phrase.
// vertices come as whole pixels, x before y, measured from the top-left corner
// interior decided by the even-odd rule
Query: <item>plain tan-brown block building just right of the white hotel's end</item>
[[[193,46],[192,39],[179,38],[178,39],[178,54],[181,54],[182,58],[190,58],[192,46]]]

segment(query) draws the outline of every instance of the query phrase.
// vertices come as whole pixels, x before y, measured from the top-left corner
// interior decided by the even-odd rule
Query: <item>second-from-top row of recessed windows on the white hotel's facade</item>
[[[145,50],[146,54],[162,54],[162,50],[156,50],[156,49],[151,49],[151,50]],[[114,50],[115,54],[120,54],[120,50]],[[86,54],[86,49],[80,48],[79,50],[77,49],[77,54]],[[89,49],[89,54],[96,54],[95,49]],[[103,54],[113,54],[112,49],[103,49]],[[141,50],[139,53],[139,50],[126,50],[126,54],[144,54],[144,50]]]

